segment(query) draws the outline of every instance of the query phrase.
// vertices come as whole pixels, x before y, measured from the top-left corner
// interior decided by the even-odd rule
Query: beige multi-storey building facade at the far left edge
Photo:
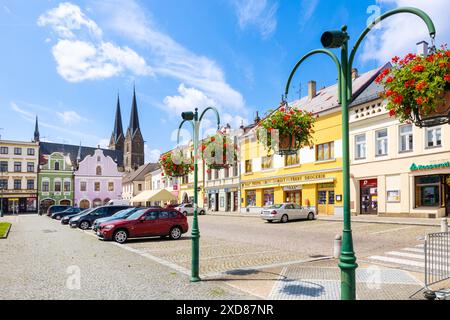
[[[37,212],[39,142],[0,140],[0,209]]]

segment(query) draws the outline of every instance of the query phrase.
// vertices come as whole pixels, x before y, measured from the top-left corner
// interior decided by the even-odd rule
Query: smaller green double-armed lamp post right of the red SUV
[[[194,143],[194,218],[192,222],[192,260],[191,260],[191,282],[200,281],[199,269],[200,269],[200,229],[198,227],[198,144],[199,144],[199,131],[200,124],[205,116],[206,112],[212,110],[216,114],[217,118],[217,130],[220,128],[220,116],[219,112],[214,107],[206,108],[198,116],[198,109],[195,112],[183,112],[181,117],[183,121],[178,128],[177,143],[180,143],[180,131],[185,122],[189,122],[192,125],[192,140]]]

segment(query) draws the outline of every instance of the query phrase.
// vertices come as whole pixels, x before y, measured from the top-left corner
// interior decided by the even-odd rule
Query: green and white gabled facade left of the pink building
[[[61,152],[41,154],[38,173],[38,204],[40,212],[55,204],[73,205],[74,167],[70,157]]]

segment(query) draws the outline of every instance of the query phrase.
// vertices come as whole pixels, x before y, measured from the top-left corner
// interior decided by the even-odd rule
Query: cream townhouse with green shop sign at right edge
[[[353,214],[450,214],[450,126],[420,129],[389,117],[372,83],[350,108]]]

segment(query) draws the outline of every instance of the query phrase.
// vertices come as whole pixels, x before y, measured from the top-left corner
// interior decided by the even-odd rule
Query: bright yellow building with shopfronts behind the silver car
[[[358,76],[353,90],[357,95],[373,79],[375,70]],[[293,102],[294,107],[318,116],[314,125],[314,147],[297,155],[268,154],[256,139],[256,128],[241,141],[241,211],[259,212],[264,206],[283,202],[313,206],[319,214],[341,215],[343,208],[342,127],[337,85],[316,91],[308,84],[308,96]]]

